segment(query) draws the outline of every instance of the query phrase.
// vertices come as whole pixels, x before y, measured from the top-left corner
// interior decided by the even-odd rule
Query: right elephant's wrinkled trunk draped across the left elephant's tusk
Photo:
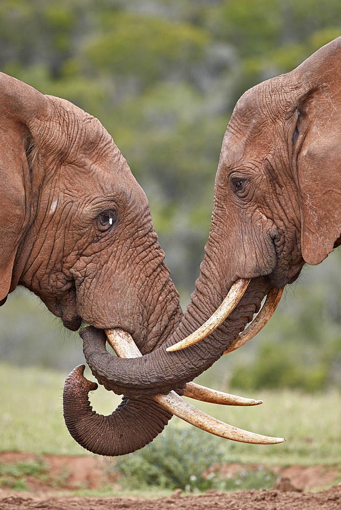
[[[201,266],[196,292],[192,294],[191,303],[173,335],[142,358],[116,358],[107,352],[106,336],[102,330],[93,327],[81,330],[85,359],[93,375],[107,390],[137,398],[183,388],[186,382],[220,358],[252,319],[259,310],[261,300],[270,290],[266,277],[251,280],[235,310],[206,339],[182,351],[166,352],[168,346],[187,337],[212,315],[237,279],[236,276],[226,278],[229,280],[226,283],[218,281],[218,278],[214,281],[212,275],[220,275],[222,270],[212,267],[211,260],[207,254]]]

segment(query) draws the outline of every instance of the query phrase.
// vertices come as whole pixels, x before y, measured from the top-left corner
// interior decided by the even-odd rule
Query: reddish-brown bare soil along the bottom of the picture
[[[67,492],[77,488],[99,489],[103,484],[118,487],[117,478],[112,474],[107,461],[101,457],[42,455],[48,466],[43,478],[28,476],[26,484],[32,492],[0,490],[0,510],[340,510],[341,484],[322,492],[305,492],[318,489],[339,479],[340,471],[325,466],[275,467],[278,475],[273,490],[250,490],[220,493],[208,491],[200,496],[182,496],[176,490],[172,496],[159,499],[117,498],[117,497],[75,497]],[[36,455],[21,452],[0,453],[0,462],[14,464],[35,460]],[[221,474],[233,477],[245,468],[239,464],[222,466]],[[59,480],[59,493],[53,490],[53,482]],[[70,492],[69,492],[70,494]],[[151,494],[152,496],[152,494]]]

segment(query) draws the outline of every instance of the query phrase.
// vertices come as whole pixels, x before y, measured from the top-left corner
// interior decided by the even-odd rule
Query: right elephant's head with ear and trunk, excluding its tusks
[[[227,127],[206,255],[174,334],[141,359],[113,359],[100,331],[83,330],[95,376],[125,395],[182,387],[236,338],[264,295],[295,281],[340,243],[341,38],[297,69],[247,91]],[[238,307],[207,339],[165,348],[208,319],[237,278],[252,278]]]

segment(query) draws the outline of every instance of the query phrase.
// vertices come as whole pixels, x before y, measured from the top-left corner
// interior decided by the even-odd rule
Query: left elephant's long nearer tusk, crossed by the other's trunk
[[[132,337],[120,328],[106,329],[108,343],[114,349],[120,358],[138,358],[141,353],[134,343]],[[197,385],[196,385],[197,386]],[[232,441],[239,441],[241,443],[253,444],[277,444],[285,441],[283,438],[272,438],[269,436],[261,436],[247,430],[242,430],[220,420],[212,418],[203,411],[197,409],[189,402],[180,397],[175,391],[169,392],[167,395],[155,395],[154,400],[163,407],[173,413],[178,418],[194,425],[194,427],[201,428],[210,432],[215,436],[221,438],[231,439]]]

